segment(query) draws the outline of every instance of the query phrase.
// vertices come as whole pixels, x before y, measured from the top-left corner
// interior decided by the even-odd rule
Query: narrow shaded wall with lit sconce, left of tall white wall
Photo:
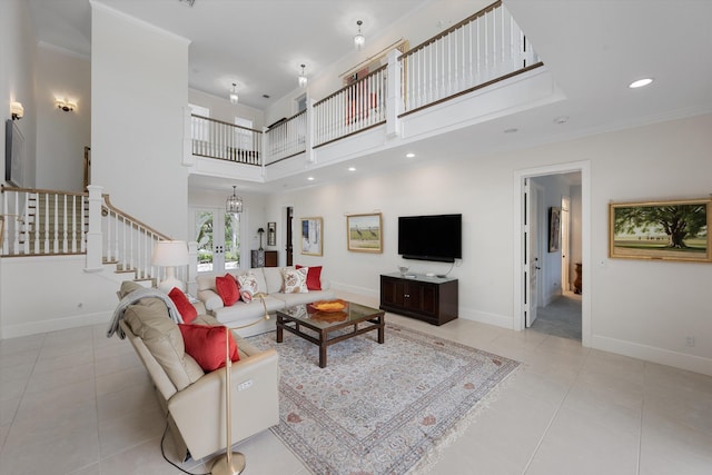
[[[83,191],[85,147],[91,144],[89,58],[40,43],[37,56],[37,187]],[[57,99],[77,105],[71,112]]]

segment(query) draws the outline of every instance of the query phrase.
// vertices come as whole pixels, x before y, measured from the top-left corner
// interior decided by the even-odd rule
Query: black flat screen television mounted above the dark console
[[[398,217],[398,254],[404,259],[454,263],[463,257],[463,215]]]

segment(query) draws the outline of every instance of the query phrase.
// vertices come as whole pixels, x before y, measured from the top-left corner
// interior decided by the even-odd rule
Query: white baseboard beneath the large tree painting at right
[[[591,343],[591,346],[595,349],[616,353],[619,355],[712,376],[712,358],[688,355],[680,352],[656,348],[654,346],[641,345],[639,343],[625,342],[600,335],[594,335]]]

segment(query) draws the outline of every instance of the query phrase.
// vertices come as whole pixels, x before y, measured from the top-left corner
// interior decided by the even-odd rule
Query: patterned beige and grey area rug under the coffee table
[[[250,337],[279,353],[278,426],[273,432],[318,475],[398,475],[421,467],[518,363],[386,324],[328,348],[285,331]]]

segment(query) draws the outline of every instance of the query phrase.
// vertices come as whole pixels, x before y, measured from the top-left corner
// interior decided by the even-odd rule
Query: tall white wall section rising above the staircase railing
[[[185,239],[188,41],[91,6],[91,184],[129,215]]]

